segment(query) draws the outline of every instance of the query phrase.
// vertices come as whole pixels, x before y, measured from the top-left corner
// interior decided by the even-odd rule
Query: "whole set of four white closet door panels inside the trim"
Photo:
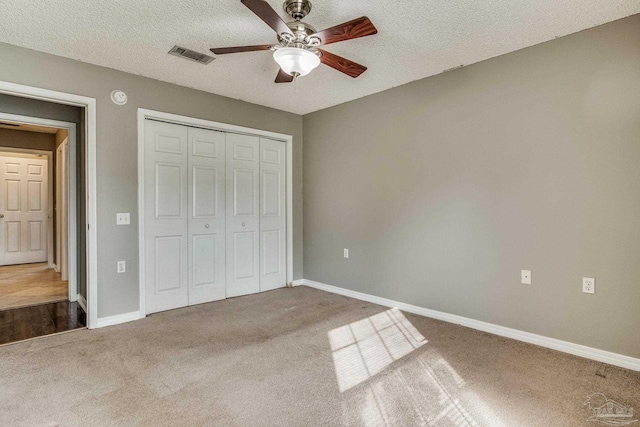
[[[285,143],[145,120],[153,313],[286,285]]]

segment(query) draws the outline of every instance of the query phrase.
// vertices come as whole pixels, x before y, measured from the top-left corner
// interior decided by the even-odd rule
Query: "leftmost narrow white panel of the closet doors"
[[[145,121],[147,313],[189,302],[187,134],[185,126]]]

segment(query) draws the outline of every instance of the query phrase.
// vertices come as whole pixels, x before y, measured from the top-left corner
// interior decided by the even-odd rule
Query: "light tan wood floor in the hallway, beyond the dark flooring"
[[[46,263],[0,267],[0,310],[66,300],[67,286]]]

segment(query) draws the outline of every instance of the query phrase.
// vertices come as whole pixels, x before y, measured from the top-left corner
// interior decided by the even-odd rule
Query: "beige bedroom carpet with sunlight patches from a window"
[[[306,287],[0,347],[0,425],[596,426],[607,399],[640,412],[640,373]]]

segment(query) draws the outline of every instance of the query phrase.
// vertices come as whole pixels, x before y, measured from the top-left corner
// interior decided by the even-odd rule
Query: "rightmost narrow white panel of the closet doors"
[[[260,138],[260,291],[287,284],[285,143]]]

